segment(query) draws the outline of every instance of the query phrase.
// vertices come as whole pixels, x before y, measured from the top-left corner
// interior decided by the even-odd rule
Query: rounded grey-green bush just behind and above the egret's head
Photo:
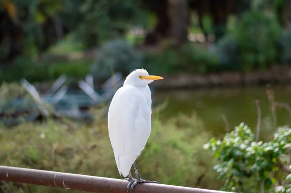
[[[114,72],[129,74],[141,68],[141,55],[125,40],[113,40],[104,44],[92,65],[94,77],[108,77]]]

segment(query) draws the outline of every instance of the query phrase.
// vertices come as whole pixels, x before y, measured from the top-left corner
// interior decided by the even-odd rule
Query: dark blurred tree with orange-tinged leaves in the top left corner
[[[69,0],[0,0],[1,63],[11,62],[19,55],[34,58],[39,51],[46,50],[58,38],[62,38],[70,29],[63,27],[59,13],[68,2]]]

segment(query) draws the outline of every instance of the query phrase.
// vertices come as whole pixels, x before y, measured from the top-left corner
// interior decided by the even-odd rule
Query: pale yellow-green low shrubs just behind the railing
[[[42,124],[24,123],[15,129],[0,127],[2,165],[54,170],[109,178],[119,176],[108,137],[107,121],[97,110],[95,122],[80,126],[49,120]],[[153,113],[152,133],[137,160],[142,178],[160,183],[217,189],[220,182],[211,170],[211,153],[203,152],[210,134],[196,115],[180,115],[161,121]],[[1,188],[16,186],[1,185]],[[25,190],[18,187],[18,190]],[[29,192],[74,193],[77,191],[28,185]],[[9,192],[9,190],[8,190]]]

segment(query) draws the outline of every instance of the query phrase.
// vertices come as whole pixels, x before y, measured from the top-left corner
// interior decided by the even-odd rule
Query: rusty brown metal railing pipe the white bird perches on
[[[0,180],[65,188],[92,193],[127,193],[128,181],[62,172],[0,166]],[[133,193],[226,193],[222,191],[172,186],[138,184]]]

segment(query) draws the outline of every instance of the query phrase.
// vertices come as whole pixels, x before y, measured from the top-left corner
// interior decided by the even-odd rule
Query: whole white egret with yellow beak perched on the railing
[[[139,182],[158,183],[141,179],[135,160],[145,148],[151,131],[151,91],[149,83],[163,79],[148,75],[145,69],[130,73],[111,101],[108,111],[108,130],[116,165],[120,175],[129,181],[128,192]],[[130,169],[133,165],[136,179]]]

